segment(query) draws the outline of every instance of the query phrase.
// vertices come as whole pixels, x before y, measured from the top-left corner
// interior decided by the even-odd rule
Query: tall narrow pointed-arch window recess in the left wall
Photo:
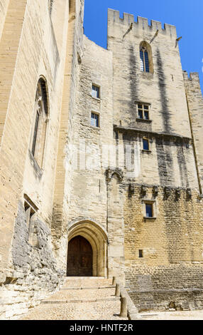
[[[33,136],[31,142],[31,153],[40,168],[43,165],[43,155],[45,150],[45,137],[48,121],[48,96],[45,80],[38,81],[35,95],[35,123],[33,126]]]

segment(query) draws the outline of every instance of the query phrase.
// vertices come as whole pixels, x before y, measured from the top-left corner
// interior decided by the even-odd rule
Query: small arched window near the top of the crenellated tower
[[[150,45],[143,41],[140,45],[141,71],[153,73],[152,51]]]

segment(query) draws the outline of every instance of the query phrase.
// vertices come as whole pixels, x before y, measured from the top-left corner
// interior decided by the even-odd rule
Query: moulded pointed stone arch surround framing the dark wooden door
[[[68,230],[68,242],[77,236],[84,237],[92,246],[92,275],[94,277],[106,277],[108,241],[106,230],[97,222],[89,219],[73,221]]]

